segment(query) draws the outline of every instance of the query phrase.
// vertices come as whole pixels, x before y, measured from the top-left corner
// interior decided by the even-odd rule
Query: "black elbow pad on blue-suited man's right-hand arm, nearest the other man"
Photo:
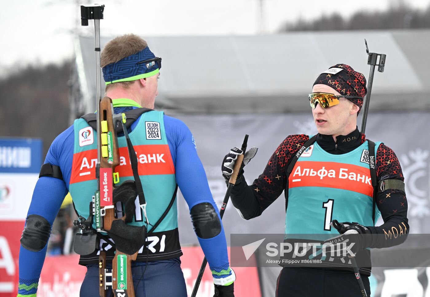
[[[209,202],[194,205],[190,214],[194,231],[200,238],[212,238],[221,232],[221,221],[215,208]]]

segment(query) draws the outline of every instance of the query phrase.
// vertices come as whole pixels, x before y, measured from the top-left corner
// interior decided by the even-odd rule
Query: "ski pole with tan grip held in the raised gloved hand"
[[[233,173],[231,174],[230,180],[228,181],[227,192],[225,193],[224,200],[221,204],[221,209],[219,211],[219,216],[221,217],[221,220],[224,215],[225,208],[227,207],[228,199],[230,199],[231,189],[233,188],[234,184],[236,184],[237,175],[239,174],[240,166],[242,166],[243,157],[245,154],[246,146],[248,144],[248,137],[249,135],[246,134],[245,139],[243,139],[243,144],[241,147],[241,150],[243,153],[237,156],[236,164],[234,164],[234,168],[233,168]],[[191,293],[191,297],[196,297],[207,263],[208,263],[208,260],[206,260],[206,257],[204,257],[202,265],[200,266],[199,275],[197,276],[196,283],[194,284],[193,293]]]

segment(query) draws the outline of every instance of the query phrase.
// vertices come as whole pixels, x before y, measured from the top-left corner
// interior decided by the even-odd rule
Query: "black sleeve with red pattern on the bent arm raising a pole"
[[[243,218],[249,220],[258,217],[272,204],[286,188],[285,168],[292,156],[307,141],[307,135],[288,136],[270,157],[263,173],[249,186],[241,177],[231,191],[231,201],[241,212]]]

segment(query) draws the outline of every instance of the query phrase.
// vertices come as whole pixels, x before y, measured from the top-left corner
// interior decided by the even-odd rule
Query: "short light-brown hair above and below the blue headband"
[[[101,52],[101,67],[116,63],[129,55],[134,55],[142,49],[145,49],[147,46],[148,44],[146,41],[135,34],[125,34],[115,37],[113,40],[109,41],[106,46],[104,46],[104,49]],[[133,83],[134,81],[111,83],[106,86],[106,91],[116,86],[122,86],[123,88],[128,89]]]

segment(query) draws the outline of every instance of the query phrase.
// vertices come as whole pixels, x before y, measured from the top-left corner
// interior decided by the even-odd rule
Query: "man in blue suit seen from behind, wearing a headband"
[[[111,40],[101,52],[101,66],[106,96],[113,99],[114,113],[154,108],[161,58],[151,52],[143,39],[127,34]],[[179,258],[182,251],[178,237],[177,186],[188,204],[195,233],[212,271],[215,296],[233,297],[236,276],[229,265],[224,229],[190,130],[178,119],[149,110],[138,116],[128,134],[138,157],[148,221],[155,224],[172,199],[175,201],[132,262],[136,297],[187,296]],[[18,296],[36,296],[52,223],[69,191],[77,213],[84,218],[89,216],[89,203],[97,185],[95,135],[95,129],[86,119],[77,119],[49,148],[22,233]],[[123,133],[118,135],[120,165],[116,171],[120,183],[133,179],[124,138]],[[129,224],[146,225],[140,207]],[[148,231],[151,228],[147,225]],[[107,263],[112,261],[114,248],[109,243],[100,239],[98,249],[81,255],[79,263],[87,267],[81,297],[98,296],[98,254],[103,250]],[[107,291],[109,294],[111,290]]]

